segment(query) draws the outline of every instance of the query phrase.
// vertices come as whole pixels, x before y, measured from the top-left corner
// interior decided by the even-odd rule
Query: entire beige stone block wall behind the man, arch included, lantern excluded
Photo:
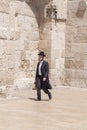
[[[50,0],[0,1],[0,86],[34,81],[39,50],[53,86],[87,85],[86,0],[55,0],[57,21],[45,18]]]

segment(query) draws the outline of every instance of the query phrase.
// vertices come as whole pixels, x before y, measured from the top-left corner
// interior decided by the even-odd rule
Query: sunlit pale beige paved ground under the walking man
[[[87,130],[87,89],[59,87],[48,101],[34,101],[35,90],[0,100],[0,130]]]

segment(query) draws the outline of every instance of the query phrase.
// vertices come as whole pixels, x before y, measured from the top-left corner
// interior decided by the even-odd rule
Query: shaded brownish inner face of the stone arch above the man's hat
[[[21,0],[18,0],[21,1]],[[22,0],[32,10],[39,29],[38,50],[44,50],[47,54],[47,59],[51,61],[51,24],[45,18],[45,6],[50,0]]]

